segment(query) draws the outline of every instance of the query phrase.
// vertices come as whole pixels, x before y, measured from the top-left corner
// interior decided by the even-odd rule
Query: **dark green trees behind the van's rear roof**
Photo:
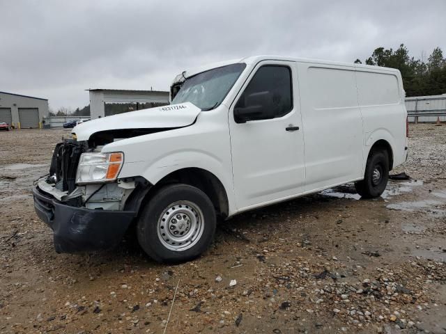
[[[355,63],[362,63],[356,59]],[[411,57],[403,44],[398,49],[376,48],[364,63],[397,68],[403,78],[406,96],[441,95],[446,93],[446,58],[440,47],[433,49],[427,59]]]

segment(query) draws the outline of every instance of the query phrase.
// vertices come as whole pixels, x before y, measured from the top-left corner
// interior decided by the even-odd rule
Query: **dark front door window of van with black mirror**
[[[234,107],[238,123],[282,117],[293,109],[291,70],[265,65],[257,70]]]

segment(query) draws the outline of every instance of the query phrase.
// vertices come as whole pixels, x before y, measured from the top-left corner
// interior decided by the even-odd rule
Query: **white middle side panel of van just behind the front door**
[[[305,191],[363,177],[362,115],[353,66],[298,63]]]

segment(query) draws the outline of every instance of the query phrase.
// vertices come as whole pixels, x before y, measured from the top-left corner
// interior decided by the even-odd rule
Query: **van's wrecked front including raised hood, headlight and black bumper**
[[[125,152],[107,152],[107,145],[188,127],[200,112],[185,102],[107,116],[77,125],[76,138],[57,144],[49,174],[33,189],[34,207],[54,231],[56,251],[115,246],[151,189],[144,177],[119,177],[124,164],[140,157],[129,150],[125,161]]]

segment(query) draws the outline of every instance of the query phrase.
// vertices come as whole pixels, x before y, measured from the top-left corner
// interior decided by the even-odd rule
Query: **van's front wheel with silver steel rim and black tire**
[[[187,212],[178,210],[187,210]],[[174,216],[168,216],[168,214]],[[175,221],[177,214],[185,219],[181,217],[180,223],[173,225],[171,222]],[[166,218],[163,220],[163,216],[167,218],[167,221],[165,221]],[[177,222],[178,220],[175,223]],[[215,209],[206,193],[187,184],[173,184],[158,190],[146,203],[137,222],[137,236],[139,244],[153,260],[171,263],[185,262],[199,257],[208,249],[214,238],[215,225]],[[199,226],[199,228],[195,229],[194,226]],[[171,228],[178,228],[178,230],[172,232]],[[180,228],[183,230],[179,230]],[[193,230],[201,232],[190,234]],[[181,236],[183,233],[185,236],[190,235],[190,240],[195,239],[172,245],[175,244],[173,241],[177,241],[175,238],[181,237],[179,234],[174,236],[175,232],[179,232]],[[191,244],[193,246],[190,246]],[[178,247],[178,249],[171,250],[168,247]],[[182,250],[180,247],[190,248]]]

